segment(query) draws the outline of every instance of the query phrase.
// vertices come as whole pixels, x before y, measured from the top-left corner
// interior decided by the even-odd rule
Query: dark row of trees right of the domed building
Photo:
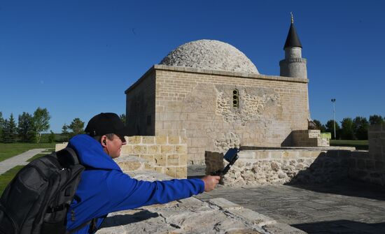
[[[367,140],[367,129],[369,125],[373,124],[384,124],[385,117],[381,115],[370,115],[369,121],[365,117],[355,117],[344,118],[341,125],[338,122],[335,122],[330,119],[323,125],[318,120],[314,119],[314,123],[318,126],[318,129],[321,132],[330,132],[332,133],[332,139],[343,139],[343,140]],[[334,136],[334,124],[335,124],[335,133]]]

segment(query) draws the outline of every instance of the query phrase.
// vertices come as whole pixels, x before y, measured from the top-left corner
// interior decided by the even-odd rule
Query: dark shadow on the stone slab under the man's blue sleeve
[[[113,217],[106,217],[102,224],[102,228],[109,228],[127,224],[138,223],[147,219],[159,217],[158,213],[149,212],[148,210],[142,210],[134,214],[118,214]]]

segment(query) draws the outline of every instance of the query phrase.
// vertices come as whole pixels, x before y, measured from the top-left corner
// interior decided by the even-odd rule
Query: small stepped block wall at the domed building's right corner
[[[329,138],[321,135],[319,130],[296,130],[292,132],[292,145],[298,147],[328,147]]]

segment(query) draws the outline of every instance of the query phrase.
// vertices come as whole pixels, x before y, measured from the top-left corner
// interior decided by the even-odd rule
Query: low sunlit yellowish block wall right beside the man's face
[[[155,170],[174,178],[187,177],[187,145],[181,136],[131,136],[116,161],[122,170]],[[137,158],[137,161],[132,159]]]

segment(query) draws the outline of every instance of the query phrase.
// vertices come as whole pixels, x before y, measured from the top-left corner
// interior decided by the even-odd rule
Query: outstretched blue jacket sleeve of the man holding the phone
[[[204,191],[204,182],[201,179],[148,182],[132,179],[129,175],[117,170],[111,171],[106,184],[111,203],[111,210],[108,212],[169,203]]]

